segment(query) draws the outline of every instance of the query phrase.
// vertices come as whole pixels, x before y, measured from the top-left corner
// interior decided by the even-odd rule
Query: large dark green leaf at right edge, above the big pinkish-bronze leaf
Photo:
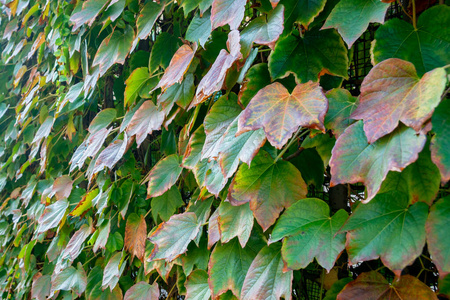
[[[450,64],[450,7],[438,5],[419,16],[417,29],[407,21],[393,18],[375,32],[372,59],[379,63],[388,58],[400,58],[414,64],[423,75]]]

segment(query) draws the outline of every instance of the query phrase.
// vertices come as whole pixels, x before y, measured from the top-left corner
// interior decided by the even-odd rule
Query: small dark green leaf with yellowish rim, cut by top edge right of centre
[[[326,0],[280,1],[280,5],[286,7],[285,28],[290,31],[296,22],[307,28],[314,18],[322,12],[326,2]]]

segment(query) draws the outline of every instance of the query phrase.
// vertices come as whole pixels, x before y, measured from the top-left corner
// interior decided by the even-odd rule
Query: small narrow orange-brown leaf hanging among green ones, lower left
[[[131,253],[131,259],[134,256],[141,261],[144,259],[146,237],[147,223],[144,216],[138,216],[135,213],[130,214],[125,226],[125,250]]]

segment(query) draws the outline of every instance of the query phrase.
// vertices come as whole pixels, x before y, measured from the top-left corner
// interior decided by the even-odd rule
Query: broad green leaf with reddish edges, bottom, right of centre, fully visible
[[[329,272],[345,248],[345,233],[338,232],[347,217],[342,209],[330,217],[323,200],[299,200],[280,217],[270,242],[284,238],[281,253],[288,269],[306,268],[316,258]]]

